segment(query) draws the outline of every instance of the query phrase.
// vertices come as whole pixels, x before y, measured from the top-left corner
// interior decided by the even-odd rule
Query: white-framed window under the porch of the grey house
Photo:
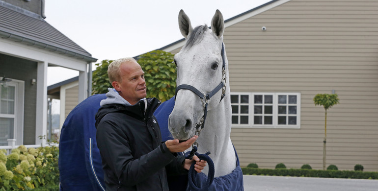
[[[22,144],[24,113],[24,82],[12,80],[0,84],[0,146],[8,145],[8,139]],[[21,132],[20,132],[21,131]]]

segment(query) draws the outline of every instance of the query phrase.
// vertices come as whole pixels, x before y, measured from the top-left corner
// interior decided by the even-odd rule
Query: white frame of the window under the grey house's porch
[[[10,79],[10,78],[9,78]],[[24,144],[24,98],[25,82],[22,80],[11,79],[6,82],[8,86],[15,87],[14,114],[0,114],[1,118],[13,118],[13,139],[16,145]]]

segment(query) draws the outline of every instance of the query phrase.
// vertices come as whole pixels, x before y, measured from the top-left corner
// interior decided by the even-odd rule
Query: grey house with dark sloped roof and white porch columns
[[[44,20],[44,2],[0,0],[0,148],[46,143],[48,67],[79,71],[78,103],[91,92],[97,59]]]

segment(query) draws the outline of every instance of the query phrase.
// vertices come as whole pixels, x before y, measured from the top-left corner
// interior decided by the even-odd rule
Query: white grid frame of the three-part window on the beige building
[[[301,98],[300,93],[288,93],[288,92],[232,92],[231,95],[248,95],[248,124],[232,124],[232,127],[236,128],[280,128],[280,129],[299,129],[300,128],[300,105],[301,105]],[[254,96],[255,95],[272,95],[273,96],[273,103],[272,103],[272,124],[254,124]],[[288,108],[286,110],[287,114],[285,116],[296,116],[297,117],[297,124],[296,125],[282,125],[278,124],[278,95],[297,95],[297,104],[286,104],[288,106],[296,105],[297,106],[297,114],[291,115],[288,114]],[[288,97],[287,97],[288,100]],[[233,103],[231,103],[232,105]],[[239,104],[240,105],[240,104]],[[263,103],[264,105],[264,103]],[[264,107],[263,107],[264,108]],[[240,111],[239,111],[239,114]],[[265,115],[266,116],[266,115]],[[239,120],[240,122],[240,120]]]

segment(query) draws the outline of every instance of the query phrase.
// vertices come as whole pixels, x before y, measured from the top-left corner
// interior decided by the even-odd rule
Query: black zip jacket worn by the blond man
[[[185,160],[161,143],[156,98],[135,105],[106,104],[96,114],[96,139],[110,191],[168,191],[168,173],[183,174]]]

